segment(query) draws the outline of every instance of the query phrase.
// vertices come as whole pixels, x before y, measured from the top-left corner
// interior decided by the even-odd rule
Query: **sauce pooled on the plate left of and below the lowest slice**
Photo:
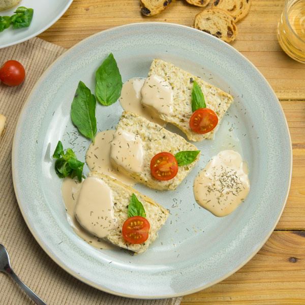
[[[94,236],[85,230],[77,221],[74,215],[74,209],[83,182],[66,177],[62,183],[62,196],[67,211],[67,220],[74,232],[89,245],[98,249],[116,249],[111,243]]]

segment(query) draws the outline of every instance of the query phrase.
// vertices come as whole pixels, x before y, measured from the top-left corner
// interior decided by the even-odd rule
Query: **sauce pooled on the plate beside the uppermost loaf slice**
[[[141,88],[144,84],[145,78],[131,78],[123,84],[119,102],[124,110],[128,110],[157,123],[165,126],[164,120],[158,117],[156,112],[141,104]]]

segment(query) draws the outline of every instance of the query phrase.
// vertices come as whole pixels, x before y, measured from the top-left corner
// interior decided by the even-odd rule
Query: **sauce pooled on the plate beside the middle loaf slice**
[[[101,131],[95,136],[95,143],[91,143],[86,152],[86,163],[90,171],[98,171],[128,185],[135,185],[135,180],[118,171],[110,161],[110,142],[115,130]]]

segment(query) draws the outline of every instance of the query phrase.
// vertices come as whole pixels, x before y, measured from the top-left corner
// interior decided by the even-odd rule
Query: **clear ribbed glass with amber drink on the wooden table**
[[[305,64],[305,0],[286,0],[278,41],[287,55]]]

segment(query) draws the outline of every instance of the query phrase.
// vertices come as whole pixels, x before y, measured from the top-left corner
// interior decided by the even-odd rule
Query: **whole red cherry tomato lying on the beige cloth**
[[[0,79],[8,86],[20,85],[25,78],[25,70],[17,60],[8,60],[0,69]]]

